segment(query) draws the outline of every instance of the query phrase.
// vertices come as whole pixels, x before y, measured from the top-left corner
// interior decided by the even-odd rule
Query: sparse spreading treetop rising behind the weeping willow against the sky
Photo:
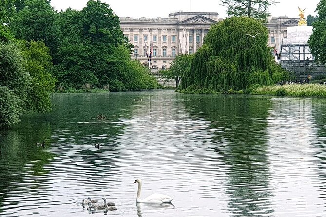
[[[222,0],[222,3],[222,6],[227,5],[229,16],[247,16],[266,20],[270,15],[268,6],[277,2],[275,0]]]

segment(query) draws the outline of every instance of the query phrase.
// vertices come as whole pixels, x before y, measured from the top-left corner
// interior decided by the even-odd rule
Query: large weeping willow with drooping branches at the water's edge
[[[268,29],[253,18],[233,17],[215,24],[195,53],[181,88],[226,92],[272,84],[267,42]]]

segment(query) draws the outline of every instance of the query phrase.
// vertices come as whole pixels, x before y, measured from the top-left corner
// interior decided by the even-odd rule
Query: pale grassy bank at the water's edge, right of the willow
[[[320,84],[294,84],[282,86],[263,86],[254,89],[250,94],[273,96],[311,96],[326,97],[326,86]]]

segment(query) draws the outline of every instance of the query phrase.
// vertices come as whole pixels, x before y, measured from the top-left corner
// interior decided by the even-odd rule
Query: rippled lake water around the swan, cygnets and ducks
[[[52,102],[0,131],[1,217],[326,216],[326,99],[160,90]],[[135,179],[141,198],[175,198],[136,204]],[[117,211],[89,211],[87,197]]]

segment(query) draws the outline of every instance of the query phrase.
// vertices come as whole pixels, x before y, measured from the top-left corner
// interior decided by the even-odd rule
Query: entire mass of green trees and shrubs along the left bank
[[[108,4],[56,12],[50,0],[0,1],[0,127],[25,112],[51,109],[57,87],[142,90],[158,86],[123,36]]]

